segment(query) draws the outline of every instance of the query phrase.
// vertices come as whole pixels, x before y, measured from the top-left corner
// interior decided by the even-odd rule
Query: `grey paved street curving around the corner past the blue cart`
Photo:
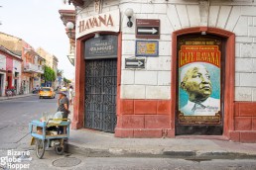
[[[64,153],[57,155],[53,148],[46,151],[43,159],[35,155],[35,146],[30,146],[28,124],[39,119],[44,112],[54,113],[57,109],[56,99],[38,99],[31,96],[20,99],[0,101],[0,158],[5,157],[8,150],[30,151],[32,160],[19,164],[29,165],[29,169],[88,169],[88,170],[255,170],[253,159],[240,160],[184,160],[172,158],[133,158],[133,157],[86,157],[80,154]],[[0,169],[4,166],[0,164]]]

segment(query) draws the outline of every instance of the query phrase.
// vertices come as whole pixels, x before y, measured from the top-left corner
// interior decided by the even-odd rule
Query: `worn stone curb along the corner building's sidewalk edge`
[[[256,154],[227,152],[227,151],[164,151],[152,149],[123,149],[123,148],[89,148],[78,146],[74,143],[67,143],[65,151],[69,153],[77,153],[86,157],[155,157],[155,158],[182,158],[191,160],[205,159],[256,159]]]

